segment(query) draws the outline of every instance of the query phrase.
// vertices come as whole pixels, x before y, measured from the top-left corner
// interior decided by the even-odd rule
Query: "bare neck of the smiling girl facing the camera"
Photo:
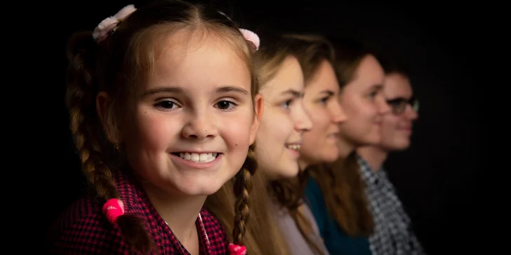
[[[163,191],[150,183],[142,183],[154,209],[166,221],[181,243],[197,238],[195,222],[206,201],[206,195],[183,195]],[[193,242],[193,241],[192,241]]]

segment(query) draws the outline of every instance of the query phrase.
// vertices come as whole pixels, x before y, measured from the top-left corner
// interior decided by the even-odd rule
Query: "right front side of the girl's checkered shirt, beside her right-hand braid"
[[[201,210],[201,218],[211,243],[210,251],[213,252],[212,254],[225,254],[229,240],[222,224],[205,208]]]

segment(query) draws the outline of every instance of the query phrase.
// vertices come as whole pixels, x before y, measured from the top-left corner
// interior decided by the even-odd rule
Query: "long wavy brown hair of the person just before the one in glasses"
[[[347,38],[330,39],[335,50],[333,69],[343,92],[354,78],[361,61],[372,55],[363,43]],[[350,236],[368,236],[373,233],[373,216],[366,198],[366,187],[361,178],[357,154],[339,157],[332,164],[314,165],[307,170],[317,181],[326,209],[338,226]]]

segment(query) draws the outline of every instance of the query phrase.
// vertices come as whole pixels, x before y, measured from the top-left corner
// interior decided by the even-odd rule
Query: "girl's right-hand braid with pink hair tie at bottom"
[[[246,254],[246,247],[242,245],[244,244],[246,223],[249,219],[250,200],[248,195],[252,188],[251,177],[255,170],[257,170],[257,161],[254,156],[254,146],[251,145],[248,148],[243,168],[236,174],[234,181],[236,202],[234,203],[234,229],[232,230],[234,244],[230,244],[229,247],[231,254]]]

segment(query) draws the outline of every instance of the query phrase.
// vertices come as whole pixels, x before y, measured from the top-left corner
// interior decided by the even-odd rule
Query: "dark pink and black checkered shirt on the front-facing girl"
[[[138,182],[124,174],[116,176],[114,182],[124,202],[126,214],[139,216],[147,222],[146,229],[160,254],[189,255],[164,219],[156,212]],[[92,197],[81,198],[70,205],[48,233],[47,244],[51,253],[133,254],[124,242],[119,226],[109,223],[101,208],[102,205]],[[201,216],[209,245],[197,219],[200,254],[227,254],[227,235],[220,222],[204,208],[201,210]]]

